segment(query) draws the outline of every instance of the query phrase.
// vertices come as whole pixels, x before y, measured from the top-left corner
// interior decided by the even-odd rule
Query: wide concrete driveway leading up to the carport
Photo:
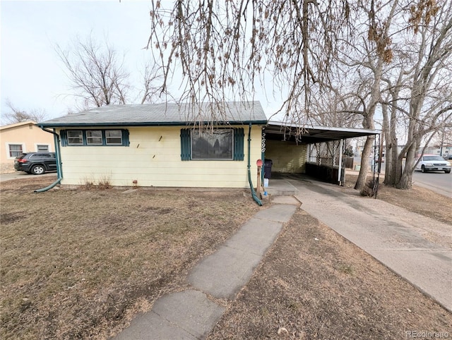
[[[353,189],[285,180],[302,209],[452,311],[452,226]]]

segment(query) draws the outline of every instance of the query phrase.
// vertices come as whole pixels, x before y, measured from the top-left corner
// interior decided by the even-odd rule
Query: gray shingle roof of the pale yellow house
[[[68,114],[37,125],[62,126],[183,126],[193,123],[266,124],[260,102],[223,102],[220,104],[133,104],[108,105]]]

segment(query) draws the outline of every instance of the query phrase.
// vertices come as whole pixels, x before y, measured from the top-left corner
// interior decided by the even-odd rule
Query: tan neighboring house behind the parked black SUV
[[[53,135],[36,126],[35,121],[24,121],[0,126],[1,173],[13,172],[14,159],[23,152],[54,151]]]

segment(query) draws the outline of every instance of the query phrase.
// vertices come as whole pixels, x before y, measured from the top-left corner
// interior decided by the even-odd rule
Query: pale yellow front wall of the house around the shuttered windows
[[[61,184],[79,186],[107,179],[113,186],[133,186],[135,180],[138,186],[247,188],[249,128],[243,128],[243,161],[182,161],[181,127],[129,127],[129,147],[61,147]],[[257,174],[260,157],[261,127],[253,126],[251,174]]]

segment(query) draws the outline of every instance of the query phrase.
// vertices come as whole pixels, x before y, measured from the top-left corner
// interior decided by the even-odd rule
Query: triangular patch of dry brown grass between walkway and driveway
[[[297,210],[208,339],[408,339],[409,331],[452,334],[452,315]]]

